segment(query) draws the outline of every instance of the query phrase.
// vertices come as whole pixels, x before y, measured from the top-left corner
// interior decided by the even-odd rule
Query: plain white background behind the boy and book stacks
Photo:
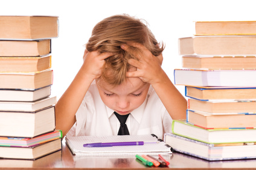
[[[59,37],[52,40],[52,95],[57,99],[82,65],[83,45],[95,24],[122,13],[145,19],[165,43],[162,68],[172,81],[174,68],[181,68],[178,38],[193,36],[194,21],[256,20],[253,0],[0,0],[0,15],[59,16]],[[183,86],[177,88],[184,94]]]

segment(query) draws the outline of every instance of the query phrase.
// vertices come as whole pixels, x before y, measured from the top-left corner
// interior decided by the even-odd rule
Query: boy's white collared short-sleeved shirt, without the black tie
[[[120,122],[114,110],[101,100],[97,85],[92,83],[83,102],[75,114],[77,122],[69,130],[72,136],[110,136],[117,135]],[[152,87],[146,100],[132,111],[126,120],[130,135],[155,134],[163,139],[171,132],[172,119]]]

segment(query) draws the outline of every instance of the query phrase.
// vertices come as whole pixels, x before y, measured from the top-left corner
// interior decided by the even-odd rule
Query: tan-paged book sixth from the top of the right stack
[[[256,100],[197,100],[188,99],[188,109],[209,113],[256,112]]]

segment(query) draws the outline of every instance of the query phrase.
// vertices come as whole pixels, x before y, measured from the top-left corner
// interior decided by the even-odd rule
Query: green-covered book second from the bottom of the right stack
[[[256,129],[203,129],[186,120],[173,120],[172,133],[208,144],[256,142]]]

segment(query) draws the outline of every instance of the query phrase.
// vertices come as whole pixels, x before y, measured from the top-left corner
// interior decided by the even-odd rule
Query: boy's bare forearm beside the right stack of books
[[[161,81],[152,84],[156,94],[158,94],[171,118],[185,119],[187,100],[179,93],[164,71],[159,76],[161,76]]]

